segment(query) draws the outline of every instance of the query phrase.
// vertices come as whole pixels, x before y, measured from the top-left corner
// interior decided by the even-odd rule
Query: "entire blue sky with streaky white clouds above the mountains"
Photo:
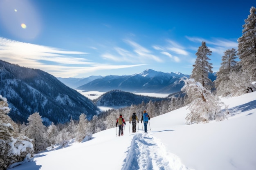
[[[237,49],[254,0],[0,0],[0,59],[56,77],[213,71]]]

